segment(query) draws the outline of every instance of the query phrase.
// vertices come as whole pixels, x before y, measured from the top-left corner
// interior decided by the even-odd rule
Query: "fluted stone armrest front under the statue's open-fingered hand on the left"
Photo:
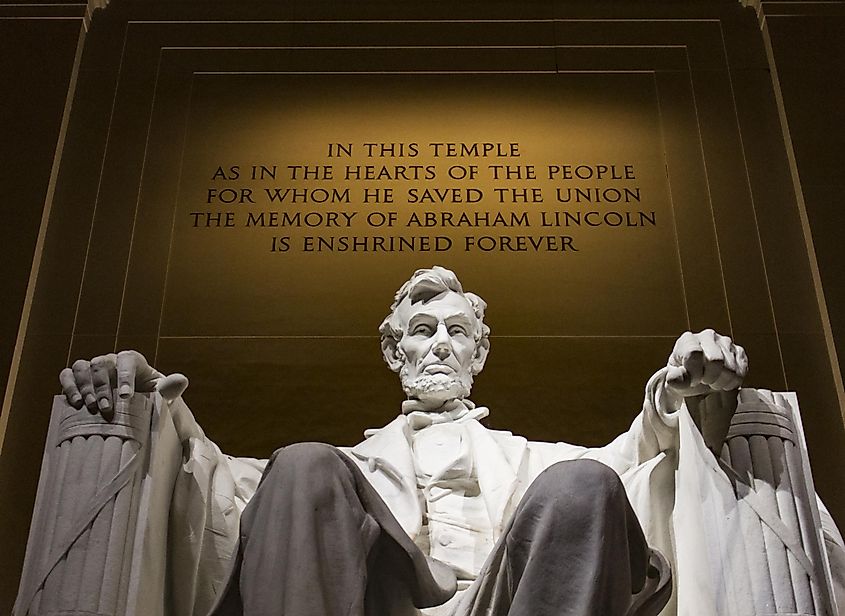
[[[111,420],[56,396],[14,615],[163,614],[180,452],[158,394]]]

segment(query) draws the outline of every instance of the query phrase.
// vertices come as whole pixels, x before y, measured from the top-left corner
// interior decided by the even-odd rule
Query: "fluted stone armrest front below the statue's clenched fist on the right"
[[[758,614],[835,614],[798,400],[742,389],[720,464],[734,486]]]

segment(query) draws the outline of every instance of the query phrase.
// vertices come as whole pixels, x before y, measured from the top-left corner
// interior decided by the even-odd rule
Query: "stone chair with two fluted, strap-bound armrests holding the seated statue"
[[[14,616],[162,616],[181,445],[158,394],[112,421],[53,402]],[[737,616],[833,616],[830,566],[797,399],[743,389],[719,465],[749,568]],[[724,549],[724,548],[723,548]]]

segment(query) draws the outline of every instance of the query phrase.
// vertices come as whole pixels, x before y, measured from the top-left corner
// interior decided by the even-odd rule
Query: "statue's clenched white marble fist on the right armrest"
[[[739,389],[748,373],[745,349],[712,329],[686,332],[667,363],[666,389],[681,398]]]

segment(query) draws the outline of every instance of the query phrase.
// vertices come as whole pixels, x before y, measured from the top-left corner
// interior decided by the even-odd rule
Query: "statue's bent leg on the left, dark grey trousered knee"
[[[320,443],[271,458],[241,516],[237,567],[215,616],[392,616],[438,592],[361,471]]]

